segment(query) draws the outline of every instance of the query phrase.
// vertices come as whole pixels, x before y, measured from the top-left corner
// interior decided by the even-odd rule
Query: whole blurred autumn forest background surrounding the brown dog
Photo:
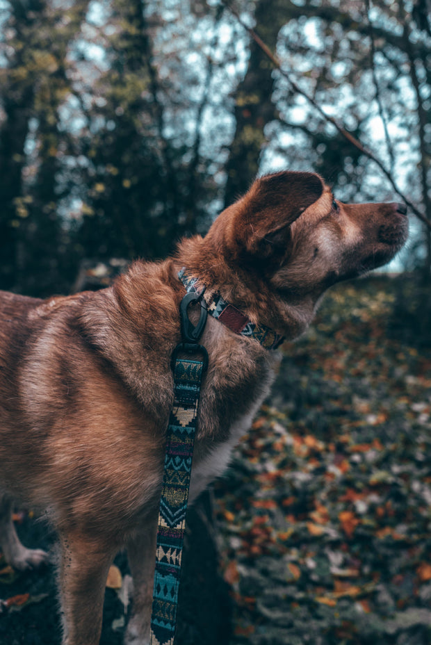
[[[409,205],[406,249],[331,291],[284,348],[213,509],[190,514],[184,644],[430,642],[430,10],[0,0],[0,288],[109,284],[282,168],[320,172],[343,201]],[[28,546],[54,539],[15,521]],[[128,606],[116,564],[104,645]],[[51,569],[0,555],[0,598],[1,645],[58,645]]]

